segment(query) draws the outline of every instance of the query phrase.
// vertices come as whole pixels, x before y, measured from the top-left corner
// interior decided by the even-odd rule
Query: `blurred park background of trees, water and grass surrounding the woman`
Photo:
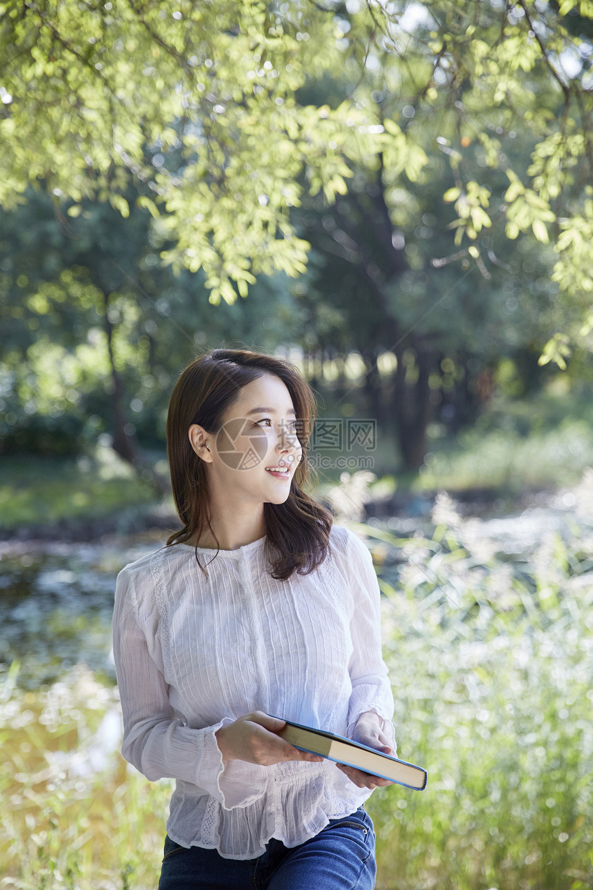
[[[369,801],[378,890],[593,885],[590,4],[104,4],[84,39],[68,3],[4,5],[2,886],[154,886],[171,784],[119,755],[113,593],[178,527],[167,402],[218,346],[301,369],[311,493],[373,553],[398,754],[429,770]],[[194,81],[153,119],[170,57]],[[139,71],[140,140],[60,131]]]

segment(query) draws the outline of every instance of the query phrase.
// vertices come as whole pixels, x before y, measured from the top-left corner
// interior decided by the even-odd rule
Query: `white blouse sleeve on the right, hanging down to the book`
[[[365,544],[349,531],[348,577],[353,599],[350,635],[353,651],[349,661],[352,694],[349,700],[348,732],[352,738],[357,719],[365,711],[381,717],[381,728],[397,750],[393,717],[393,692],[389,672],[381,654],[381,590],[373,557]]]

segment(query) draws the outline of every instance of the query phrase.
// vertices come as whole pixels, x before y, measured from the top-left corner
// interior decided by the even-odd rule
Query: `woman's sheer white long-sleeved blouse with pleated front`
[[[381,657],[380,590],[365,544],[333,525],[309,575],[267,571],[266,538],[236,550],[163,547],[117,576],[114,658],[122,753],[149,780],[172,777],[167,833],[228,859],[271,837],[304,843],[353,813],[359,789],[333,761],[222,763],[214,733],[253,710],[352,737],[373,710],[395,753]]]

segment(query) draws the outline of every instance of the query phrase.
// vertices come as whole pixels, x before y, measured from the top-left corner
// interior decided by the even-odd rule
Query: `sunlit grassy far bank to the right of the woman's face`
[[[583,469],[593,465],[593,399],[586,391],[573,395],[558,389],[551,386],[530,399],[496,398],[457,434],[447,433],[445,425],[429,424],[428,453],[420,472],[405,471],[396,441],[379,431],[373,451],[357,452],[373,459],[368,467],[377,476],[373,495],[477,489],[490,490],[493,498],[516,498],[525,490],[574,485]],[[327,407],[331,414],[331,405]],[[320,470],[318,490],[324,494],[342,472]]]

